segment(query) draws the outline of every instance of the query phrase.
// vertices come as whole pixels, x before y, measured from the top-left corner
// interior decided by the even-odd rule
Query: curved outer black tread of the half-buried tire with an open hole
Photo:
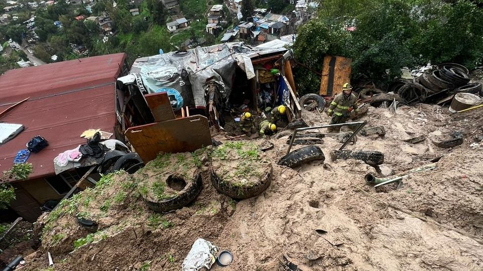
[[[195,173],[193,179],[187,182],[183,190],[178,192],[176,197],[160,201],[152,201],[144,196],[142,199],[149,209],[155,212],[164,213],[188,205],[195,200],[202,188],[203,183],[201,181],[201,172],[198,171]]]

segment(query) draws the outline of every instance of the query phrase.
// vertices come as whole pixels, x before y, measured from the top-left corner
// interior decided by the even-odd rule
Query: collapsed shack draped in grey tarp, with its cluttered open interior
[[[151,123],[143,95],[166,92],[178,116],[202,114],[215,127],[246,108],[262,112],[279,104],[299,118],[292,76],[291,51],[243,43],[197,47],[137,59],[130,74],[118,79],[118,114],[122,128]]]

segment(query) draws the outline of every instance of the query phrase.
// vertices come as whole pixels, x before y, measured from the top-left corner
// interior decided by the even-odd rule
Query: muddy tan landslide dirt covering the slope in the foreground
[[[294,170],[277,166],[288,148],[286,135],[271,139],[275,147],[266,155],[273,179],[257,197],[235,201],[221,195],[211,185],[209,163],[202,162],[203,189],[196,200],[157,214],[139,193],[145,170],[105,176],[46,218],[42,252],[56,251],[55,270],[180,270],[193,242],[204,238],[234,257],[231,265],[212,270],[481,270],[483,153],[471,149],[467,137],[452,149],[431,142],[454,131],[445,110],[403,106],[394,114],[370,108],[362,117],[368,126],[383,125],[386,134],[358,137],[347,149],[382,152],[381,168],[402,172],[445,155],[436,169],[399,186],[367,185],[364,175],[382,176],[381,168],[352,159],[315,161]],[[329,122],[318,113],[304,112],[304,119],[309,125]],[[404,142],[419,135],[426,140]],[[319,146],[329,157],[341,145],[327,137]],[[150,167],[152,162],[145,169]],[[124,200],[115,200],[119,194]],[[78,212],[98,222],[97,232],[76,222]],[[46,263],[45,254],[33,254],[21,270]]]

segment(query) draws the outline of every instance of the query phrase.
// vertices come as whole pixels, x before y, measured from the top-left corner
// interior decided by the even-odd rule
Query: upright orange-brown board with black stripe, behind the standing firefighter
[[[327,55],[322,68],[320,95],[334,96],[341,93],[344,83],[351,80],[351,64],[350,58]]]

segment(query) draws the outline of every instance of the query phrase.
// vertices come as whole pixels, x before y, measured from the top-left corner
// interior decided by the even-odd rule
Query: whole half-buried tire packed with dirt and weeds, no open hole
[[[228,142],[211,153],[211,183],[223,195],[247,199],[264,192],[272,181],[272,164],[257,144]]]

